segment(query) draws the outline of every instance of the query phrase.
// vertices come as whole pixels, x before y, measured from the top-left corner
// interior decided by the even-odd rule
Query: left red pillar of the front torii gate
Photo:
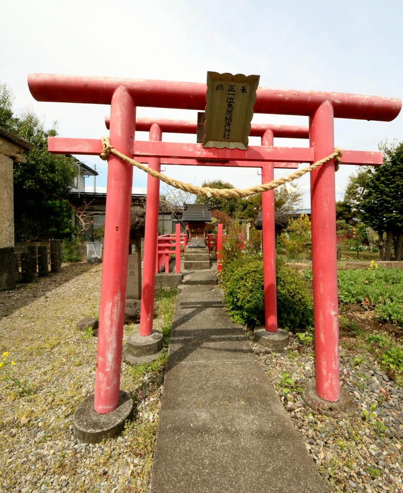
[[[132,149],[135,120],[136,106],[130,94],[117,88],[111,104],[110,139],[123,152]],[[132,166],[109,156],[95,374],[94,409],[98,413],[111,412],[119,404],[132,178]]]

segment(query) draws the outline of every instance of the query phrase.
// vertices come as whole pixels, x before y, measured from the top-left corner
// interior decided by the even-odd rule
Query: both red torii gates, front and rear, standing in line
[[[274,168],[312,164],[331,154],[334,118],[390,121],[401,108],[395,98],[258,88],[255,113],[308,116],[309,127],[252,123],[250,135],[260,137],[261,146],[245,151],[204,149],[201,144],[162,142],[163,132],[196,134],[196,122],[136,119],[136,107],[204,110],[206,84],[33,74],[28,85],[38,101],[110,104],[111,145],[154,170],[160,171],[161,164],[261,168],[262,183],[273,180]],[[135,140],[135,130],[149,131],[149,141]],[[309,138],[309,148],[274,147],[274,137]],[[99,155],[102,150],[101,139],[51,137],[48,147],[59,154]],[[343,164],[380,165],[383,155],[343,150],[342,160]],[[340,397],[334,173],[334,160],[310,173],[316,393],[328,402]],[[97,413],[109,413],[119,404],[132,174],[131,165],[109,155],[94,396]],[[153,332],[158,202],[159,180],[148,176],[142,337]],[[265,329],[275,333],[274,190],[262,194],[262,231]]]

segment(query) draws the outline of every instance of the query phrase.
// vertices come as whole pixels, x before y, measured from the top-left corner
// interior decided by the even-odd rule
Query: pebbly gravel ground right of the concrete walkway
[[[313,349],[292,334],[290,341],[283,354],[266,355],[252,347],[321,475],[334,491],[402,493],[403,388],[370,356],[346,347],[352,343],[346,340],[342,385],[357,411],[343,418],[313,414],[301,398],[301,388],[314,379]]]

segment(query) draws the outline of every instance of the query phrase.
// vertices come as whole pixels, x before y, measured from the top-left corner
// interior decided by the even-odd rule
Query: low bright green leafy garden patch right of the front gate
[[[378,267],[339,272],[339,301],[375,310],[378,320],[403,326],[403,270]]]

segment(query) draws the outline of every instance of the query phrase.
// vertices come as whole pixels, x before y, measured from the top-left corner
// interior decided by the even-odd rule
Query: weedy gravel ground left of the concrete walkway
[[[133,375],[122,364],[120,388],[133,398],[136,413],[117,440],[85,445],[72,433],[74,411],[94,392],[97,346],[77,322],[97,317],[100,281],[101,265],[70,264],[0,293],[0,351],[15,362],[6,369],[33,390],[20,395],[11,382],[0,381],[2,492],[147,491],[162,371]],[[137,328],[125,326],[124,339]]]

